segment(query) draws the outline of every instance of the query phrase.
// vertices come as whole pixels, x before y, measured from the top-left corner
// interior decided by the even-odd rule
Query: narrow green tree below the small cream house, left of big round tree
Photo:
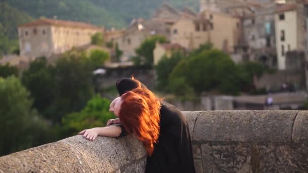
[[[161,90],[165,90],[168,88],[169,75],[173,68],[184,59],[185,56],[178,51],[172,53],[171,57],[167,57],[166,55],[162,57],[162,59],[158,62],[155,69],[157,71],[157,81],[158,88]]]

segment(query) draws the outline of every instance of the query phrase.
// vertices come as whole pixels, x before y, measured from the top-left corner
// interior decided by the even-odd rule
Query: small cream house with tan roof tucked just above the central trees
[[[157,65],[163,56],[171,57],[173,51],[179,51],[185,54],[186,50],[179,44],[160,44],[156,42],[155,49],[153,50],[154,65]]]

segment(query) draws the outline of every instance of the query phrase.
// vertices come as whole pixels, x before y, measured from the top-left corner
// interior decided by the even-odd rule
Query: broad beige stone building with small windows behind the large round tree
[[[171,43],[188,50],[210,41],[215,48],[232,53],[240,38],[240,18],[211,10],[195,18],[182,17],[171,27]]]

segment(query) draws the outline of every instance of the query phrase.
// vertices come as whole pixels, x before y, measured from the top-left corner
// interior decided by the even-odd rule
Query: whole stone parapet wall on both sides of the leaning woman
[[[308,111],[184,112],[197,172],[307,172]],[[143,172],[132,137],[74,136],[0,157],[0,172]]]

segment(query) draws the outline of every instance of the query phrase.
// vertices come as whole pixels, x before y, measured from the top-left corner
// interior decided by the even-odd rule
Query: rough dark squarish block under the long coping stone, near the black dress
[[[202,144],[205,172],[252,172],[251,150],[243,144]]]

